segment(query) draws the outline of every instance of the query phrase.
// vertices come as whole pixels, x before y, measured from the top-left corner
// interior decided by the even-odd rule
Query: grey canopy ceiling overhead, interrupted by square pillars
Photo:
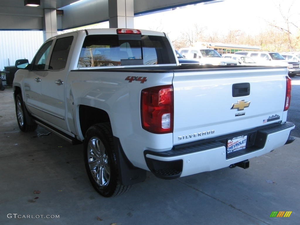
[[[118,0],[125,1],[125,0]],[[127,0],[128,1],[128,0]],[[207,1],[224,0],[129,0],[134,1],[134,15]],[[57,16],[57,29],[69,29],[109,20],[108,0],[41,0],[38,7],[24,6],[23,0],[0,1],[0,30],[42,30],[44,9],[64,10]]]

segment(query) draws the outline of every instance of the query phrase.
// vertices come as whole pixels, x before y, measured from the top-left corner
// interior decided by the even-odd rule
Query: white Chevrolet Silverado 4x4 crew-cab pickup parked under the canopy
[[[83,143],[103,196],[147,170],[174,179],[247,168],[294,140],[286,67],[179,65],[165,33],[131,29],[58,35],[28,63],[16,61],[13,80],[20,130],[41,125]]]

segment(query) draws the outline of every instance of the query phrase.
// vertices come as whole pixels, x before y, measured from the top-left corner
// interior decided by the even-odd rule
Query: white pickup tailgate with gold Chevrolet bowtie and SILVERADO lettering
[[[285,120],[285,67],[175,70],[173,144]]]

